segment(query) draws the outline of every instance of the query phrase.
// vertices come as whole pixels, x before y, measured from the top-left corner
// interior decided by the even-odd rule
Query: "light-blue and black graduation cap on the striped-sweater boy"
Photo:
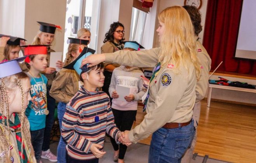
[[[71,62],[70,64],[68,64],[67,66],[65,66],[63,68],[74,69],[75,71],[77,71],[78,75],[80,75],[82,73],[82,69],[83,69],[83,71],[88,71],[87,64],[85,64],[82,68],[80,68],[82,60],[85,57],[88,57],[89,55],[94,54],[94,53],[95,53],[95,50],[90,49],[88,47],[84,47],[84,50],[77,57],[77,59],[75,59],[75,61]]]

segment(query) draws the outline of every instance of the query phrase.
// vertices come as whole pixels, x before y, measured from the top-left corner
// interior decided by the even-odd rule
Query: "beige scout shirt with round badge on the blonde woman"
[[[137,67],[153,67],[157,64],[161,48],[141,51],[117,51],[106,54],[106,62]],[[188,61],[189,62],[189,61]],[[189,70],[189,71],[188,71]],[[165,123],[185,123],[191,120],[195,104],[196,74],[190,61],[188,70],[180,67],[174,73],[171,64],[162,67],[149,86],[144,120],[129,132],[131,142],[138,142],[161,128]]]

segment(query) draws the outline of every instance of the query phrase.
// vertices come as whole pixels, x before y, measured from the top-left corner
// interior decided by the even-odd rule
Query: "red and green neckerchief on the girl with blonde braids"
[[[13,115],[14,115],[14,123],[12,123],[12,121],[9,120],[9,125],[10,125],[10,128],[13,128],[16,133],[16,141],[17,141],[17,146],[18,146],[18,150],[19,150],[19,157],[23,163],[27,163],[28,158],[26,156],[24,142],[23,142],[23,156],[21,157],[21,141],[22,141],[21,121],[19,120],[19,115],[17,113],[13,113]],[[0,123],[2,123],[3,117],[4,117],[5,126],[7,126],[6,117],[2,116],[1,114],[0,114]]]

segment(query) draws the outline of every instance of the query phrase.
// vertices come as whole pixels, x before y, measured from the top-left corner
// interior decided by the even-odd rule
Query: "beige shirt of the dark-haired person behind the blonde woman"
[[[206,94],[206,90],[208,88],[208,80],[209,80],[209,71],[211,70],[211,58],[204,46],[197,41],[197,57],[201,63],[201,76],[199,81],[197,81],[197,86],[195,88],[195,92],[197,95],[196,102],[204,99]]]

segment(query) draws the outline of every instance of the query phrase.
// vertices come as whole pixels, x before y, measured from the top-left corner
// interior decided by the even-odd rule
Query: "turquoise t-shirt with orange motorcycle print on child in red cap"
[[[30,76],[30,74],[27,75]],[[30,95],[32,97],[32,100],[29,102],[25,114],[30,122],[31,131],[45,128],[45,110],[47,109],[47,78],[42,74],[41,76],[42,78],[33,78],[32,76],[30,76]]]

